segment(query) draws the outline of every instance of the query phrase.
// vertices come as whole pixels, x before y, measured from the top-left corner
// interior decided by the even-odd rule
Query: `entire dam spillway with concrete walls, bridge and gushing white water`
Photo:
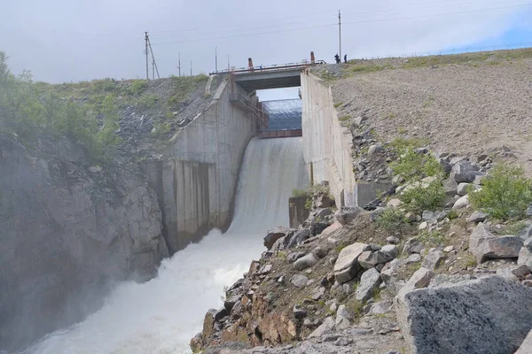
[[[338,206],[356,204],[347,128],[340,127],[330,89],[304,67],[229,74],[217,87],[207,85],[207,108],[169,140],[164,158],[142,162],[169,258],[144,283],[121,270],[117,278],[125,281],[97,312],[22,353],[189,352],[205,311],[219,307],[223,287],[260,257],[266,231],[289,225],[293,189],[329,181]],[[260,102],[256,89],[286,85],[301,85],[295,106]],[[283,114],[275,117],[279,107],[301,118],[286,124]]]

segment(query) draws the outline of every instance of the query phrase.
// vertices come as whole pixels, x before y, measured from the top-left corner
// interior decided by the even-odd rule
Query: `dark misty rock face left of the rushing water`
[[[0,342],[13,348],[82,319],[113,281],[146,279],[168,256],[137,166],[92,173],[81,150],[57,144],[30,153],[0,135]]]

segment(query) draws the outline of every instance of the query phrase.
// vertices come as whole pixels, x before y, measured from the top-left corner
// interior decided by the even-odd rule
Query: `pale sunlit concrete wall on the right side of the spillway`
[[[340,126],[331,89],[301,73],[301,99],[303,153],[313,182],[329,181],[337,206],[357,205],[351,133]]]

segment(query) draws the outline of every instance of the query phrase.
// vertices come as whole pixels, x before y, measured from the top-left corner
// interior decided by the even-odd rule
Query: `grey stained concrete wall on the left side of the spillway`
[[[231,223],[239,166],[257,130],[253,116],[231,104],[231,90],[247,96],[223,81],[207,110],[171,139],[164,158],[145,163],[170,254]]]

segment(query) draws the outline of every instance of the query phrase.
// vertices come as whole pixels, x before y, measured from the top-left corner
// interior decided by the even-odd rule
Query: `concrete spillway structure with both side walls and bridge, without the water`
[[[338,206],[371,197],[356,186],[350,134],[340,127],[331,90],[309,73],[321,64],[310,60],[211,73],[223,81],[211,88],[209,80],[207,109],[172,137],[163,158],[144,165],[171,254],[213,228],[230,226],[240,166],[253,138],[299,137],[310,183],[329,181]],[[301,100],[261,102],[257,96],[261,89],[291,87],[301,88]]]

